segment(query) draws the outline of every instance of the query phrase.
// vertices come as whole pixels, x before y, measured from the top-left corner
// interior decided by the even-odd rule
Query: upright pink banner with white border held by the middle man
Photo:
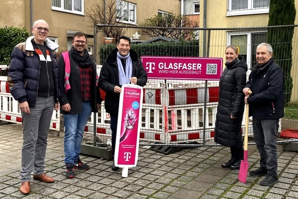
[[[122,86],[115,145],[115,166],[135,167],[138,161],[143,88]]]

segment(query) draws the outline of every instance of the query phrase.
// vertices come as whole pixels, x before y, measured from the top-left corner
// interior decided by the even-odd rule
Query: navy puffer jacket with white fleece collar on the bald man
[[[9,64],[9,73],[7,82],[11,95],[19,103],[27,101],[29,107],[35,107],[38,82],[40,80],[40,58],[34,51],[32,40],[34,36],[29,37],[26,42],[17,44],[12,53]],[[59,47],[50,39],[46,39],[46,48],[50,52],[52,60],[52,69],[55,83],[55,103],[58,103],[58,67],[55,49]]]

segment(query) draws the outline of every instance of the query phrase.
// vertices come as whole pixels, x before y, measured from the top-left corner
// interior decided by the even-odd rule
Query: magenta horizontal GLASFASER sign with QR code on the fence
[[[148,79],[220,80],[222,58],[142,56]]]

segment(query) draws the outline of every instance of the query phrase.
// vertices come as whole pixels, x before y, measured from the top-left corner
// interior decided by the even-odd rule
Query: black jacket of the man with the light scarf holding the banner
[[[98,86],[105,93],[104,106],[106,111],[111,114],[118,114],[119,109],[119,93],[114,93],[115,86],[121,87],[119,85],[119,75],[117,66],[117,52],[118,49],[115,48],[107,57],[106,61],[102,65],[100,70],[100,76],[98,81]],[[130,57],[133,62],[133,77],[137,77],[137,85],[144,87],[147,84],[147,72],[145,71],[138,54],[133,49],[129,51]]]

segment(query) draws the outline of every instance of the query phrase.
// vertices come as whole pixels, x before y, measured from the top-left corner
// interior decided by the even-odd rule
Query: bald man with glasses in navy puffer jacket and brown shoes
[[[9,64],[7,82],[12,97],[18,100],[23,124],[20,192],[30,193],[33,179],[53,183],[45,174],[45,156],[53,111],[59,109],[58,45],[47,39],[49,25],[40,19],[31,28],[33,36],[17,44]]]

